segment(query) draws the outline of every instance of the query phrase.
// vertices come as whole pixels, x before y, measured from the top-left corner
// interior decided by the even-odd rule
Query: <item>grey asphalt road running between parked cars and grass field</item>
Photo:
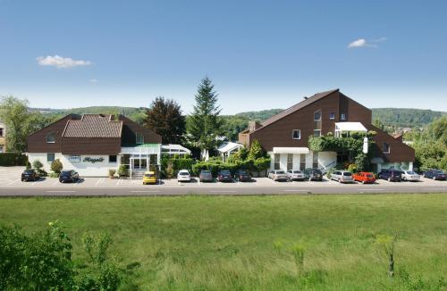
[[[126,195],[309,195],[309,194],[386,194],[386,193],[447,193],[447,183],[423,185],[422,183],[396,183],[395,185],[362,185],[349,187],[336,185],[299,185],[299,187],[275,185],[271,187],[219,186],[181,187],[1,187],[0,196],[126,196]]]

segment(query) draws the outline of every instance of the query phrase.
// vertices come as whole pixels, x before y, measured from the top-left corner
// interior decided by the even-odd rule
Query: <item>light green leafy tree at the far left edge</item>
[[[27,137],[42,126],[41,114],[29,111],[28,100],[14,96],[4,97],[0,103],[0,120],[7,130],[7,150],[15,153],[25,152]]]

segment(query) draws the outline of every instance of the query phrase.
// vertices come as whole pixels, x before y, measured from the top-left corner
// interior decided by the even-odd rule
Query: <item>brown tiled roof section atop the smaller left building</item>
[[[84,114],[80,121],[67,121],[63,137],[121,137],[122,121],[110,114]]]

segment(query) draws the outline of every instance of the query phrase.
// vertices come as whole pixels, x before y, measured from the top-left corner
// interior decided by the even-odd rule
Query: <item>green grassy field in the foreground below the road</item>
[[[0,199],[0,223],[54,220],[78,255],[82,233],[110,232],[143,290],[447,289],[447,195]],[[398,236],[393,279],[378,234]]]

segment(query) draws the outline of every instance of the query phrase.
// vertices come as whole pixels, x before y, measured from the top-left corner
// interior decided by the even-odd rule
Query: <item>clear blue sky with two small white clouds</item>
[[[447,111],[447,1],[0,0],[0,96],[34,107],[188,113],[209,76],[223,113],[340,87],[368,107]]]

